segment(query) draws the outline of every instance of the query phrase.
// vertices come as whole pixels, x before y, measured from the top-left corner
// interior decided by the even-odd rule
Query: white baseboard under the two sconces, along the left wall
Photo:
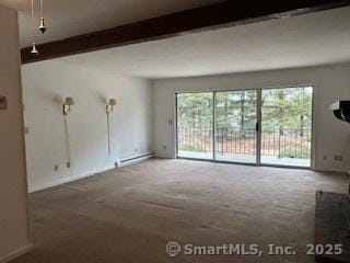
[[[115,168],[116,168],[115,165],[109,165],[109,167],[105,167],[104,169],[98,169],[98,170],[95,170],[95,171],[86,172],[84,174],[78,174],[78,175],[73,175],[73,176],[69,176],[69,178],[63,178],[63,179],[60,179],[60,180],[57,180],[57,181],[54,181],[54,182],[49,182],[49,183],[46,183],[46,184],[33,185],[33,186],[28,187],[28,193],[31,194],[31,193],[39,192],[39,191],[43,191],[43,190],[51,188],[51,187],[55,187],[55,186],[58,186],[58,185],[61,185],[61,184],[74,182],[74,181],[78,181],[78,180],[81,180],[81,179],[84,179],[84,178],[90,178],[90,176],[93,176],[95,174],[113,170]]]

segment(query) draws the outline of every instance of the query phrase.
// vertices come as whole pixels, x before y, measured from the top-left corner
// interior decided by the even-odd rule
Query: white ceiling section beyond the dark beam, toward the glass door
[[[189,34],[58,60],[149,79],[350,61],[350,8]]]

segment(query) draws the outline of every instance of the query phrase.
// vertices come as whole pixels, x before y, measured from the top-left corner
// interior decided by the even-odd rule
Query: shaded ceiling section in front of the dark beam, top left
[[[34,0],[36,21],[39,20],[39,0]],[[222,0],[44,0],[48,31],[36,31],[36,43],[110,28],[177,11],[207,5]],[[20,11],[21,46],[32,43],[31,0],[0,0],[0,4]]]

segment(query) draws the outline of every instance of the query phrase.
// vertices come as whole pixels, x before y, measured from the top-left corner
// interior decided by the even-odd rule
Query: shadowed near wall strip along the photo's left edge
[[[0,7],[0,262],[32,249],[23,139],[22,94],[16,12]]]

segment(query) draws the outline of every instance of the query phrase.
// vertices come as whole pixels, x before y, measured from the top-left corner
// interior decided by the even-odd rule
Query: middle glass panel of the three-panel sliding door
[[[215,160],[256,163],[256,90],[217,92]]]

